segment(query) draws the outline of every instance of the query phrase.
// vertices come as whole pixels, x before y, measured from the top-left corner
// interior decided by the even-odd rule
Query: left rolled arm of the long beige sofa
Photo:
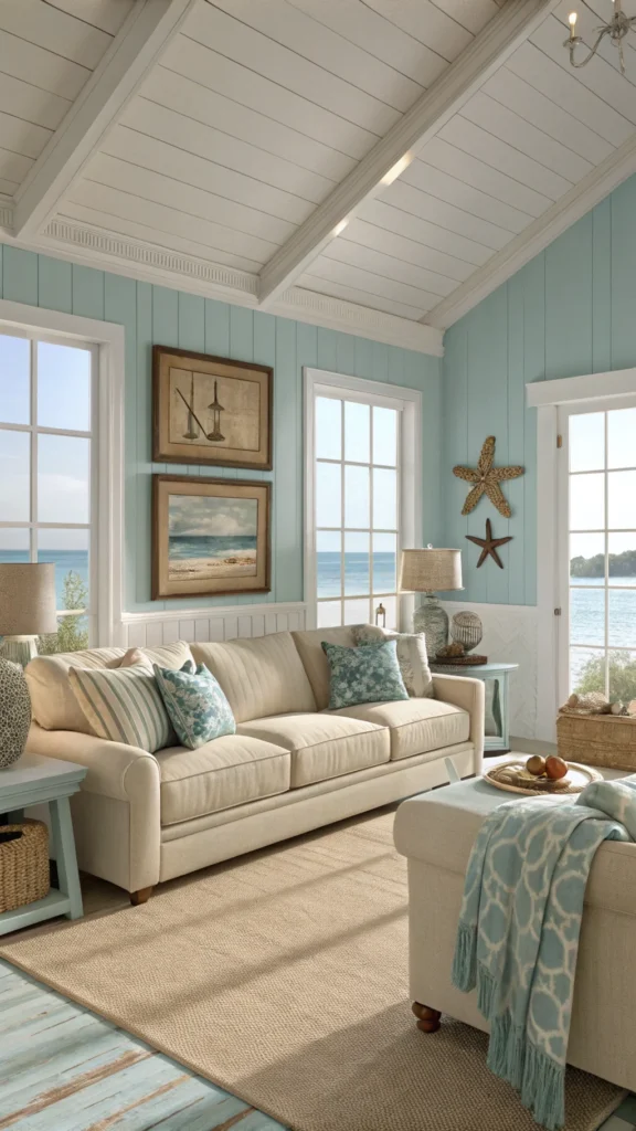
[[[86,766],[71,798],[79,866],[138,891],[158,883],[161,789],[156,758],[146,750],[77,731],[33,724],[27,750]]]

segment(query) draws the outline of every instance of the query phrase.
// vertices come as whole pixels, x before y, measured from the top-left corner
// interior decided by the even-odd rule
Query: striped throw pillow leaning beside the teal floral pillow
[[[123,742],[154,754],[177,744],[153,668],[144,657],[130,667],[71,667],[75,697],[100,739]]]

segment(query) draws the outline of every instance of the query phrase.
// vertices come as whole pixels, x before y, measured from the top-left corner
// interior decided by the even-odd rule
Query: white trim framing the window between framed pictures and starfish
[[[304,602],[307,606],[307,628],[316,628],[316,524],[315,515],[315,420],[313,402],[321,391],[334,394],[341,391],[345,397],[381,405],[383,399],[389,407],[395,402],[402,402],[402,498],[401,534],[402,546],[421,546],[422,544],[422,394],[419,389],[407,389],[399,385],[387,385],[383,381],[367,381],[360,377],[345,377],[342,373],[330,373],[323,369],[303,368],[304,386]],[[399,570],[399,562],[397,562]],[[414,597],[412,594],[398,595],[399,627],[410,625]]]

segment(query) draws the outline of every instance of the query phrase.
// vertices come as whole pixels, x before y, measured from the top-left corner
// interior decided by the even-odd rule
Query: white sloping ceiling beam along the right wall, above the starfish
[[[636,173],[636,135],[624,141],[605,161],[590,170],[578,184],[501,248],[483,267],[479,267],[453,291],[447,299],[429,310],[422,319],[424,326],[447,329],[453,322],[476,307],[482,299],[516,275],[531,259],[585,216],[601,200],[609,197],[628,176]]]

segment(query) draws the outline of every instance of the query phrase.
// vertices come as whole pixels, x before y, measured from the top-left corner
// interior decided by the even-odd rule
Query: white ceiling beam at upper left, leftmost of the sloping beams
[[[128,100],[179,31],[195,0],[136,0],[15,197],[14,232],[41,232]]]

